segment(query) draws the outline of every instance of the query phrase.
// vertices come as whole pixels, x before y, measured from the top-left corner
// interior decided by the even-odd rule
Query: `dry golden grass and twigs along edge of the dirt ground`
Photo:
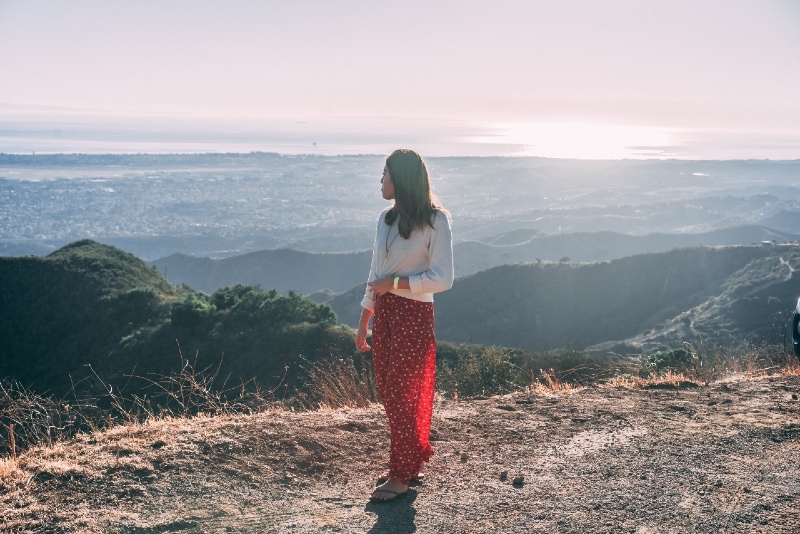
[[[690,365],[637,373],[620,370],[617,376],[597,378],[588,383],[564,381],[569,371],[557,376],[554,369],[531,373],[528,391],[542,394],[568,394],[588,386],[600,388],[692,388],[736,376],[742,379],[764,375],[800,375],[800,362],[782,347],[741,347],[736,352],[705,350],[688,346]],[[367,407],[380,402],[371,362],[368,358],[339,358],[310,364],[308,394],[299,394],[294,406],[300,409],[338,409]],[[16,480],[21,471],[18,460],[25,451],[57,444],[79,435],[114,436],[122,432],[131,436],[142,424],[158,424],[173,419],[191,420],[207,416],[235,416],[269,412],[283,404],[275,390],[248,389],[247,384],[215,389],[216,370],[196,371],[184,361],[181,371],[170,376],[149,379],[152,395],[124,396],[111,392],[103,400],[111,410],[101,411],[96,398],[73,398],[70,402],[43,398],[19,384],[0,383],[0,454],[7,456],[0,465],[0,478]],[[585,374],[585,373],[584,373]],[[99,380],[99,378],[98,378]],[[101,382],[102,383],[102,382]],[[441,392],[439,392],[441,396]],[[286,404],[286,406],[289,406]],[[105,438],[107,439],[107,438]],[[168,441],[168,438],[164,438]],[[48,452],[45,455],[57,455]],[[114,451],[115,462],[124,462],[120,451]],[[124,455],[123,455],[124,456]],[[23,463],[27,460],[23,460]],[[66,460],[65,460],[66,461]],[[53,463],[40,466],[56,476],[74,470],[71,464]]]

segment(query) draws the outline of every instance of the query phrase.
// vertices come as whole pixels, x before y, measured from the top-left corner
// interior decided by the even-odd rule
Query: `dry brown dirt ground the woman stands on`
[[[367,501],[380,406],[117,427],[0,463],[0,530],[800,532],[798,395],[789,375],[439,400],[424,483],[388,504]]]

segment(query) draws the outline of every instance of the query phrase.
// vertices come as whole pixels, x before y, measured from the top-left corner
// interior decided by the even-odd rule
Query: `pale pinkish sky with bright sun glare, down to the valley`
[[[794,159],[798,95],[797,1],[0,0],[0,152],[31,124],[75,141],[81,117],[308,150],[313,130],[320,150]]]

